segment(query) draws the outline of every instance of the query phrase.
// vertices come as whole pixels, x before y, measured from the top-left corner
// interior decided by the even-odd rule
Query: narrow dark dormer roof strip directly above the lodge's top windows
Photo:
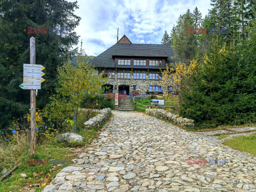
[[[116,56],[128,57],[154,57],[154,58],[167,58],[168,56],[162,50],[135,50],[135,49],[116,49],[112,58]]]

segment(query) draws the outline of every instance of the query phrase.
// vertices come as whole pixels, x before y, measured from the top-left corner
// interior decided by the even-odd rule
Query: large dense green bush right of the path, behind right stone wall
[[[250,46],[221,47],[207,55],[189,91],[181,92],[180,116],[194,119],[199,128],[256,122],[255,34],[252,39]]]

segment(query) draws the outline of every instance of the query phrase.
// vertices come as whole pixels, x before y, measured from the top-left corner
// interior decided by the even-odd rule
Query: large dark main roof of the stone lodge
[[[95,67],[103,67],[103,68],[115,68],[115,60],[112,58],[112,55],[115,54],[116,51],[126,51],[127,54],[130,52],[141,52],[143,54],[154,55],[156,53],[166,55],[167,60],[166,63],[174,63],[175,61],[171,59],[174,56],[173,49],[171,45],[163,45],[163,44],[124,44],[118,43],[111,46],[109,49],[99,54],[92,60],[92,65]],[[139,57],[139,56],[137,56]],[[142,55],[141,55],[142,57]],[[134,66],[133,66],[134,68]],[[140,68],[140,66],[136,66],[135,68]]]

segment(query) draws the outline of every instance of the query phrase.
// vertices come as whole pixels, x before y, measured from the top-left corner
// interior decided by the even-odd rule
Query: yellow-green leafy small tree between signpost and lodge
[[[71,61],[58,68],[57,94],[50,97],[51,102],[45,107],[47,119],[62,121],[68,114],[78,116],[78,107],[86,97],[96,97],[101,93],[101,86],[108,79],[98,74],[83,57],[77,57],[76,65]]]

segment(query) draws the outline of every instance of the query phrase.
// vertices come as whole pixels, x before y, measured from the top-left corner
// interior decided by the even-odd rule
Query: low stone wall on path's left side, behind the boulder
[[[111,115],[111,109],[105,108],[100,110],[99,114],[95,117],[90,118],[84,123],[85,128],[100,127],[103,122],[105,122]]]

